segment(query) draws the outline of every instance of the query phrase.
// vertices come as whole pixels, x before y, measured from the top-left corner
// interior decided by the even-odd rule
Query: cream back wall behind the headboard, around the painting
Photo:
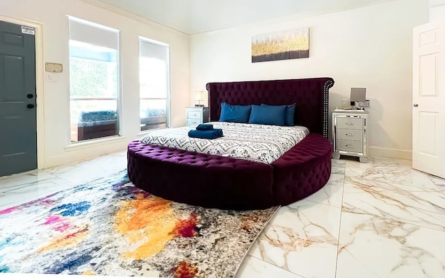
[[[207,82],[330,76],[330,110],[365,87],[371,100],[371,155],[411,158],[412,28],[428,22],[428,2],[399,0],[191,37],[191,91]],[[251,63],[253,35],[310,28],[309,58]]]

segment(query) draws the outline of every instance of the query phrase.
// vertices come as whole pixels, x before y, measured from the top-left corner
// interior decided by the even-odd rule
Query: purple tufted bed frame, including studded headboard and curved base
[[[330,178],[332,146],[327,140],[331,78],[208,83],[209,120],[221,103],[296,103],[294,123],[310,133],[273,163],[200,154],[144,144],[128,146],[128,174],[148,193],[204,207],[259,209],[286,205],[323,188]]]

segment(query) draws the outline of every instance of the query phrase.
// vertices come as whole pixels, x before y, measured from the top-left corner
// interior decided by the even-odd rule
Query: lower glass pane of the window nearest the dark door
[[[119,135],[117,99],[71,99],[71,141]]]

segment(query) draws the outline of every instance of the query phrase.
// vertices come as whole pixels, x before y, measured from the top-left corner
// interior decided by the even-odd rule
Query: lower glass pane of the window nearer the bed
[[[167,127],[167,99],[140,99],[140,130]]]

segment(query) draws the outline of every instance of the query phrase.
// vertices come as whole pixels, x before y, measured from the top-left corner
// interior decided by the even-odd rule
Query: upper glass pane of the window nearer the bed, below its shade
[[[140,97],[167,98],[168,72],[165,60],[139,58]]]

